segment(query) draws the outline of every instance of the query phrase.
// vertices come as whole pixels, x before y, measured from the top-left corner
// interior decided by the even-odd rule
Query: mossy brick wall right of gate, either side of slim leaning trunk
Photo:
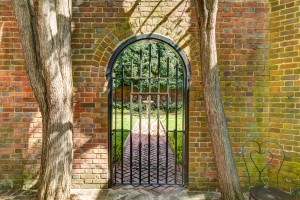
[[[221,93],[235,161],[243,182],[246,179],[241,147],[246,140],[265,137],[267,132],[268,7],[267,3],[259,1],[219,3],[216,34]],[[195,151],[190,153],[194,155],[190,158],[190,186],[215,190],[217,170],[202,100],[200,96],[195,101],[196,110],[201,111],[195,124],[195,128],[201,127],[200,132],[190,130],[191,138],[195,136],[190,143],[190,151]],[[194,150],[191,146],[197,148]]]

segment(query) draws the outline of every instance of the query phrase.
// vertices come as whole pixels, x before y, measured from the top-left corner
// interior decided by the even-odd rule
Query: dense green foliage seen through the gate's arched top
[[[151,47],[150,47],[151,46]],[[151,52],[151,56],[150,56]],[[169,60],[169,76],[167,62]],[[170,46],[163,43],[136,42],[129,45],[116,59],[114,64],[114,87],[122,86],[124,68],[124,85],[134,88],[176,88],[176,67],[178,68],[178,88],[183,87],[184,67],[180,56]],[[131,70],[132,67],[132,70]],[[141,71],[140,71],[141,69]],[[142,77],[140,79],[139,77]],[[130,78],[132,77],[132,78]],[[151,77],[149,84],[148,77]],[[158,81],[158,77],[160,80]]]

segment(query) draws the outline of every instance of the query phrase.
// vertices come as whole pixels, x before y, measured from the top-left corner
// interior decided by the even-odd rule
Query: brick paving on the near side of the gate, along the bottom
[[[114,187],[113,189],[73,189],[72,200],[219,200],[216,192],[189,191],[183,187]],[[36,190],[0,190],[1,200],[34,200]]]

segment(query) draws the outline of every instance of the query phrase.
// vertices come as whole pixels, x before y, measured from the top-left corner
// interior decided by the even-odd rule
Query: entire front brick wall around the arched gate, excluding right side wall
[[[217,47],[221,90],[242,180],[244,168],[239,154],[242,143],[249,138],[272,135],[268,131],[268,99],[272,94],[269,84],[272,88],[273,83],[268,65],[268,13],[269,4],[262,0],[228,0],[219,4]],[[73,187],[107,187],[107,63],[124,40],[153,32],[176,42],[191,64],[189,187],[216,190],[217,171],[203,107],[192,1],[74,0],[72,30]],[[7,0],[0,2],[0,41],[0,188],[31,187],[39,168],[41,118],[26,77],[18,29]]]

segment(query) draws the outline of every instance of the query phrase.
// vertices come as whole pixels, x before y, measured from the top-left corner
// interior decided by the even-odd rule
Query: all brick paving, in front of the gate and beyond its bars
[[[148,180],[148,121],[142,120],[142,181],[147,182]],[[139,123],[134,126],[133,134],[133,168],[138,171],[138,141],[139,141]],[[157,181],[157,121],[151,122],[151,182]],[[174,183],[174,153],[170,145],[168,146],[168,170],[166,170],[166,134],[163,126],[160,126],[160,151],[159,151],[159,181],[164,183],[166,172],[168,172],[168,181]],[[146,133],[146,134],[145,134]],[[128,181],[129,174],[129,150],[130,150],[130,141],[125,142],[125,155],[124,161],[124,174],[126,178],[124,181]],[[118,163],[118,170],[121,163]],[[180,167],[178,167],[180,170]],[[133,170],[134,171],[134,170]],[[133,177],[134,182],[138,182],[138,173],[134,171],[135,175]],[[178,178],[181,179],[181,173],[178,172]],[[118,181],[120,181],[120,174],[118,174]],[[36,190],[0,190],[0,200],[35,200],[36,199]],[[184,187],[180,186],[170,186],[170,185],[149,185],[149,186],[116,186],[112,189],[98,190],[98,189],[72,189],[71,190],[72,198],[71,200],[219,200],[220,193],[217,192],[201,192],[201,191],[190,191]]]

